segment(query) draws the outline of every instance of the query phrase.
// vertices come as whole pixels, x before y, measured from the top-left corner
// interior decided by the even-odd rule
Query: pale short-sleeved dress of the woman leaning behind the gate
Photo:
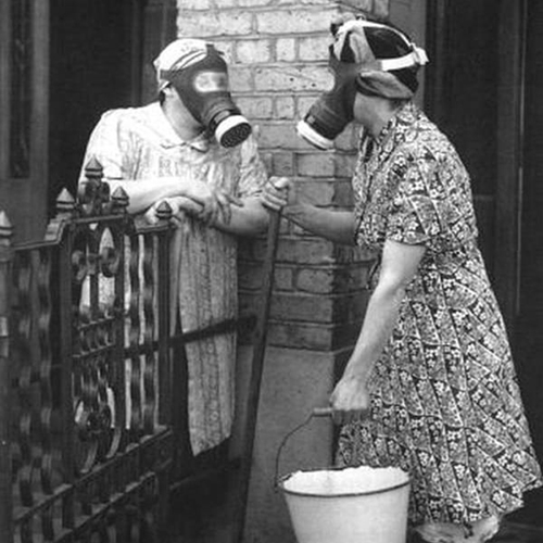
[[[238,198],[255,197],[267,175],[256,140],[225,149],[201,135],[184,141],[159,102],[105,112],[87,146],[105,180],[179,177],[205,182]],[[85,172],[81,172],[81,179]],[[141,217],[137,217],[140,220]],[[172,321],[193,331],[235,318],[238,312],[237,238],[186,216],[172,240]],[[129,295],[129,292],[127,292]],[[194,455],[228,438],[233,421],[236,333],[186,344],[189,430]]]

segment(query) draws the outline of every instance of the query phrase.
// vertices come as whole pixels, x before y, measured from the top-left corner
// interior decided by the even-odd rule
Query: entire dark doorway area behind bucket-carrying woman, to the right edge
[[[480,244],[543,462],[543,3],[428,2],[427,111],[472,177]],[[543,492],[514,517],[543,526]]]

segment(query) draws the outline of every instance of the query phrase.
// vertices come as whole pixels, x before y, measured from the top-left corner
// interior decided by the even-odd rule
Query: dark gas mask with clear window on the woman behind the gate
[[[162,77],[172,83],[192,116],[220,146],[236,147],[249,138],[251,125],[232,101],[226,62],[213,46],[207,45],[201,61]]]

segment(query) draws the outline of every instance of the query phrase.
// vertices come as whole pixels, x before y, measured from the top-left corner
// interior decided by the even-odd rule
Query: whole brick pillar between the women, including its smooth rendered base
[[[355,128],[349,126],[327,152],[313,149],[295,134],[298,121],[331,85],[330,21],[341,11],[390,16],[407,31],[415,27],[414,37],[424,46],[425,4],[426,0],[177,0],[177,28],[180,37],[209,38],[225,52],[236,101],[256,127],[269,174],[294,178],[302,198],[317,205],[350,209]],[[264,240],[240,243],[242,313],[254,307],[264,254]],[[326,405],[359,332],[370,264],[370,255],[355,248],[281,224],[247,543],[295,543],[285,501],[274,491],[276,453],[313,407]],[[250,350],[242,350],[239,405],[244,405],[250,362]],[[242,420],[243,414],[238,413],[237,419]],[[279,473],[329,466],[332,451],[331,421],[314,420],[283,450]]]

